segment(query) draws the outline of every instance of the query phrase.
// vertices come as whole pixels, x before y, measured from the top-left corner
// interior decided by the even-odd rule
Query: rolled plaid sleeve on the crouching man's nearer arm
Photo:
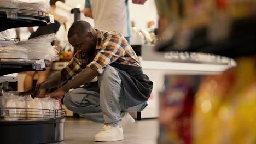
[[[124,44],[120,35],[111,35],[102,40],[101,50],[87,67],[102,74],[107,65],[124,55]]]

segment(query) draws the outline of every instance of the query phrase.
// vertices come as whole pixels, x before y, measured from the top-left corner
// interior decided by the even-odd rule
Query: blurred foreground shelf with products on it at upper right
[[[256,52],[256,1],[156,0],[158,51],[191,51],[237,57]],[[232,51],[232,52],[230,52]]]

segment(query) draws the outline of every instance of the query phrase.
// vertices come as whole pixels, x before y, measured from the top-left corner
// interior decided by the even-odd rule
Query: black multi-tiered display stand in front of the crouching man
[[[33,27],[46,26],[54,21],[53,17],[47,13],[37,10],[0,8],[0,31],[17,27]],[[18,72],[22,71],[44,71],[46,68],[41,67],[41,63],[37,63],[38,59],[13,59],[2,58],[0,56],[0,82],[18,81]],[[43,61],[46,67],[51,65]],[[13,74],[14,73],[14,74]],[[7,75],[9,74],[9,75]],[[40,120],[28,119],[26,114],[23,120],[7,121],[5,117],[15,118],[11,116],[11,108],[0,108],[0,135],[1,143],[5,144],[29,144],[29,143],[51,143],[64,140],[64,110],[48,110],[50,111],[48,118],[38,117]],[[27,109],[20,110],[27,113]],[[43,111],[46,109],[40,109]],[[32,110],[33,111],[33,110]],[[58,111],[61,111],[58,116]],[[33,114],[34,115],[34,114]],[[37,114],[42,115],[42,113]],[[54,117],[51,117],[54,116]],[[16,119],[19,119],[17,117]]]

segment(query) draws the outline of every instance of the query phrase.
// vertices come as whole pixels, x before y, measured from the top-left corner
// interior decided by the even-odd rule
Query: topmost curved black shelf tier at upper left
[[[0,31],[17,27],[46,26],[47,13],[36,10],[0,8]]]

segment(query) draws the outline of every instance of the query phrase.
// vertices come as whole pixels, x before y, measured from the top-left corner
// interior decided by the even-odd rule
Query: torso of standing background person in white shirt
[[[94,28],[117,31],[130,43],[131,21],[128,0],[86,0],[84,15],[94,19]]]

